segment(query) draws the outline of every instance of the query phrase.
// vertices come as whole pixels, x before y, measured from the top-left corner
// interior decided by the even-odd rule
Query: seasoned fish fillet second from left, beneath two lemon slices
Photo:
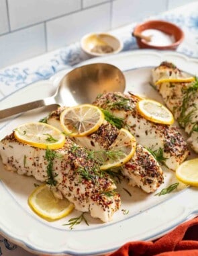
[[[47,123],[62,129],[60,126],[60,113],[64,107],[53,111],[47,119]],[[108,150],[116,139],[119,130],[105,121],[94,133],[84,137],[72,137],[80,146],[93,150]],[[136,146],[136,152],[127,164],[121,166],[122,174],[129,179],[129,184],[137,185],[146,193],[156,191],[163,182],[163,174],[160,165],[152,154],[140,145]]]

